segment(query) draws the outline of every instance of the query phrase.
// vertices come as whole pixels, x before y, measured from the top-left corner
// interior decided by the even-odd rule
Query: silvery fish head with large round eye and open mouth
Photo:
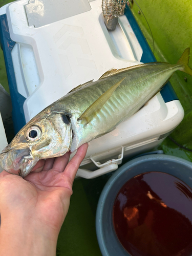
[[[27,176],[39,159],[62,156],[70,150],[71,123],[65,113],[42,112],[31,119],[0,154],[9,173]]]

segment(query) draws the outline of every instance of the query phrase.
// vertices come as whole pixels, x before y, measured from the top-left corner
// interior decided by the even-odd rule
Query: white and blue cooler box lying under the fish
[[[101,0],[20,0],[2,7],[0,19],[16,132],[79,84],[111,68],[156,61],[127,6],[113,32],[104,25]],[[77,175],[94,178],[150,151],[183,116],[168,83],[116,130],[89,143]]]

